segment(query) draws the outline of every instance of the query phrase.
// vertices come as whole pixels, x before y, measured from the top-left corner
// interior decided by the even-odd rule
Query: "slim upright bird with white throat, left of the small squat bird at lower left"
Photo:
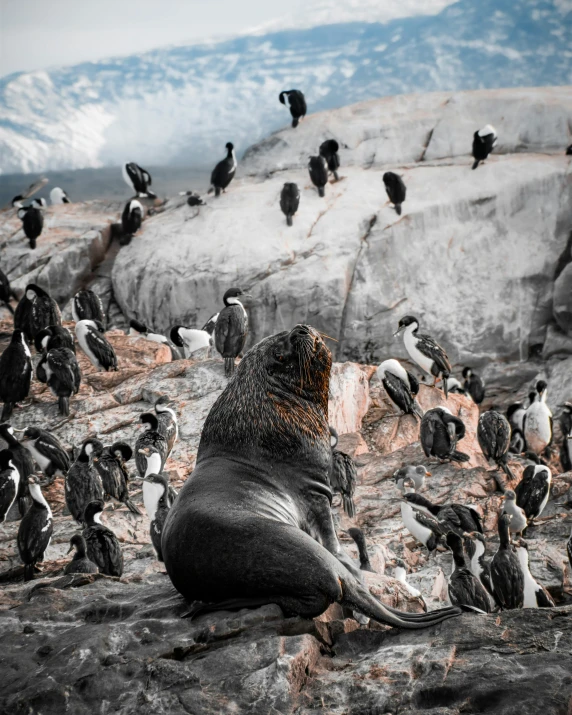
[[[40,480],[31,476],[28,480],[28,488],[32,505],[22,517],[16,538],[18,553],[24,564],[25,581],[34,578],[36,564],[44,560],[44,554],[54,531],[52,510],[42,494]]]

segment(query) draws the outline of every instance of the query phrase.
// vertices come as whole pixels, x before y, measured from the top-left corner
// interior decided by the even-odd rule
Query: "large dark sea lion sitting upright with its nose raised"
[[[401,613],[375,599],[341,550],[330,509],[331,355],[297,325],[251,348],[205,421],[197,465],[167,517],[175,588],[204,611],[278,604],[313,618],[334,602],[392,626],[460,613]]]

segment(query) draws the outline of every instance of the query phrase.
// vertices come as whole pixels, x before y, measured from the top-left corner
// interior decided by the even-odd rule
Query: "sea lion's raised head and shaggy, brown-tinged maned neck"
[[[291,457],[319,443],[329,460],[331,353],[317,330],[296,325],[261,340],[242,358],[213,405],[201,437],[207,447]]]

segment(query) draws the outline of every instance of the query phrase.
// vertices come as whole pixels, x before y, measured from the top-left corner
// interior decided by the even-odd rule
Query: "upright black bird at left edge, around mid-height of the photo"
[[[32,354],[21,330],[14,330],[10,343],[0,355],[0,402],[2,422],[10,419],[17,402],[28,397],[32,381]]]

